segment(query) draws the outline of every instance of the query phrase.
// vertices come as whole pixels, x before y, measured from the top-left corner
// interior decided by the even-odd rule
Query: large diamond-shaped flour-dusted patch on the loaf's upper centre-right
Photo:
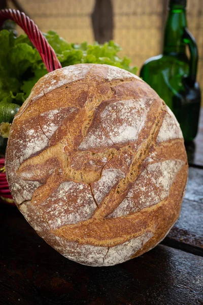
[[[143,98],[108,105],[99,117],[99,124],[88,133],[79,149],[136,141],[152,102]]]

